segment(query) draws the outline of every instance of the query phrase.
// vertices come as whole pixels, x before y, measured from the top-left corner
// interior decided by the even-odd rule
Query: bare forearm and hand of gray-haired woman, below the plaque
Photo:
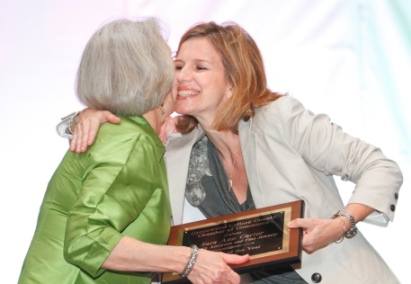
[[[103,268],[119,271],[181,272],[191,249],[184,246],[160,246],[124,237],[113,249]],[[188,275],[192,283],[239,283],[240,276],[228,264],[241,264],[248,255],[239,256],[200,249]]]

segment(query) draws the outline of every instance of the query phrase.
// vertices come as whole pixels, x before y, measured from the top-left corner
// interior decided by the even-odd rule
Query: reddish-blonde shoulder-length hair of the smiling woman
[[[192,38],[206,38],[221,57],[226,80],[233,86],[233,95],[219,106],[214,119],[218,131],[230,130],[237,133],[241,119],[247,121],[254,116],[254,110],[267,105],[281,96],[267,88],[263,59],[253,38],[239,25],[215,22],[200,23],[190,28],[181,38],[181,45]],[[177,51],[178,56],[178,51]],[[191,131],[197,120],[182,116],[178,130]]]

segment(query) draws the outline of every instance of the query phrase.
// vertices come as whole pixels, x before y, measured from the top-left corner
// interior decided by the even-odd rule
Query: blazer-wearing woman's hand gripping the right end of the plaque
[[[339,240],[344,232],[344,225],[340,218],[335,219],[303,219],[297,218],[288,222],[289,228],[302,228],[303,250],[313,253]]]

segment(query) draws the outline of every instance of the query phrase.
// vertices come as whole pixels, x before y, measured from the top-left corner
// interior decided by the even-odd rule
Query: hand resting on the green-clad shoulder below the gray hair
[[[86,151],[87,147],[93,144],[101,124],[105,122],[120,123],[120,120],[109,111],[83,109],[73,129],[70,150],[77,153]]]

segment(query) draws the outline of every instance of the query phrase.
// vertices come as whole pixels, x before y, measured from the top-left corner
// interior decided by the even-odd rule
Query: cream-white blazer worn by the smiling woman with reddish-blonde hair
[[[257,208],[298,199],[304,217],[331,218],[345,206],[333,175],[356,184],[349,203],[376,209],[373,223],[394,218],[402,173],[380,149],[344,133],[324,114],[314,115],[294,98],[283,97],[240,122],[239,137],[250,190]],[[171,135],[166,164],[174,225],[182,223],[184,191],[193,144],[201,127]],[[352,239],[302,254],[296,271],[308,283],[399,283],[361,232]],[[321,282],[312,277],[321,276]]]

